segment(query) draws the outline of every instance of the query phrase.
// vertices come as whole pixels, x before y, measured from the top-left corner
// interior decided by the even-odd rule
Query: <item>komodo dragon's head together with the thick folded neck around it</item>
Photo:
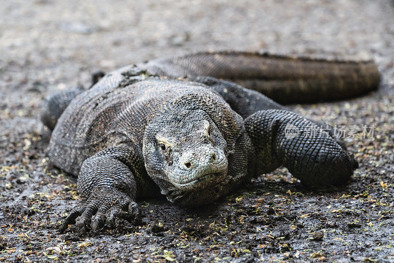
[[[244,180],[253,151],[242,117],[222,97],[199,86],[185,90],[149,121],[142,153],[162,194],[191,207],[217,200]]]

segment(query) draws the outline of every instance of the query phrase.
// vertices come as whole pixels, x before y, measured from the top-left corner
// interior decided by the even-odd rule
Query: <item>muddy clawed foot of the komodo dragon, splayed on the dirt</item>
[[[115,226],[116,219],[124,219],[137,225],[141,222],[141,211],[138,204],[126,193],[115,188],[97,188],[82,207],[74,209],[60,225],[64,232],[68,225],[75,224],[78,234],[87,231],[97,232],[107,223]]]

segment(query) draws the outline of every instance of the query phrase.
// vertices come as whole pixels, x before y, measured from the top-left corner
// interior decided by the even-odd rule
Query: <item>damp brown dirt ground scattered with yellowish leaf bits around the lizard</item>
[[[383,0],[0,1],[0,262],[394,262],[394,3]],[[51,165],[37,116],[48,94],[90,74],[200,50],[372,56],[361,98],[294,105],[338,125],[360,162],[349,185],[307,189],[286,169],[188,210],[139,200],[143,225],[78,237],[57,224],[81,200]]]

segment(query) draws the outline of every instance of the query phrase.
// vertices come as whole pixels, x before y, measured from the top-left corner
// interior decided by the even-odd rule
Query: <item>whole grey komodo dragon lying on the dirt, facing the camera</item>
[[[358,163],[332,127],[268,97],[348,98],[379,79],[372,61],[206,52],[127,66],[86,91],[52,95],[42,113],[53,129],[48,156],[78,176],[87,198],[60,230],[95,232],[116,218],[138,223],[136,198],[158,193],[183,206],[206,204],[281,165],[307,186],[346,183]],[[287,136],[289,125],[299,134]]]

